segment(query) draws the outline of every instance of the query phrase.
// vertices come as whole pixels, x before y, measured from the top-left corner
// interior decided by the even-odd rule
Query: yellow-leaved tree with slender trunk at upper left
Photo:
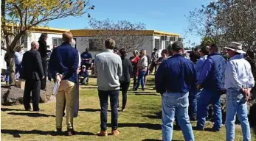
[[[1,0],[1,49],[7,51],[10,84],[15,80],[15,51],[31,28],[70,15],[80,16],[89,10],[94,10],[94,5],[85,0]]]

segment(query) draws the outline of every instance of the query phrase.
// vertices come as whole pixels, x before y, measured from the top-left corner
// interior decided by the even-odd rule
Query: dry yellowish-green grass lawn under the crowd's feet
[[[157,113],[161,109],[161,97],[153,90],[153,76],[148,79],[144,92],[128,92],[125,112],[119,112],[120,136],[97,137],[100,131],[100,104],[97,96],[96,79],[89,80],[90,85],[80,87],[80,112],[74,119],[77,134],[72,137],[55,136],[55,103],[40,104],[44,112],[26,112],[23,105],[1,106],[1,140],[161,140],[162,120]],[[120,95],[122,102],[122,95]],[[120,103],[122,105],[122,103]],[[110,106],[108,106],[110,109]],[[108,112],[108,132],[111,132],[111,112]],[[192,122],[193,127],[196,122]],[[212,123],[207,123],[207,128]],[[63,119],[65,126],[65,118]],[[194,131],[196,140],[222,141],[225,128],[220,132]],[[174,130],[173,140],[184,140],[182,132]],[[235,140],[243,140],[241,127],[236,126]],[[256,140],[252,130],[252,140]]]

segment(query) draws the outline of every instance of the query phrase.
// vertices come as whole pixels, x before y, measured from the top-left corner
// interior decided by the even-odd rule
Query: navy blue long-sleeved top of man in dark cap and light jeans
[[[162,62],[156,71],[156,91],[158,93],[187,93],[196,90],[196,70],[190,59],[175,54]]]

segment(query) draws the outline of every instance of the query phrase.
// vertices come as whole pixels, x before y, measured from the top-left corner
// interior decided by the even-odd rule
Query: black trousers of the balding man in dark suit
[[[34,111],[39,110],[41,80],[26,80],[23,102],[25,109],[30,109],[30,95],[32,92],[32,106]]]

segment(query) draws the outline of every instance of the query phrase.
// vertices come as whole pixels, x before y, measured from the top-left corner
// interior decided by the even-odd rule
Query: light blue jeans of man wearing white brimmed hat
[[[247,104],[241,92],[229,88],[226,93],[226,140],[235,140],[235,114],[240,120],[243,141],[251,140],[250,126],[247,117]]]

